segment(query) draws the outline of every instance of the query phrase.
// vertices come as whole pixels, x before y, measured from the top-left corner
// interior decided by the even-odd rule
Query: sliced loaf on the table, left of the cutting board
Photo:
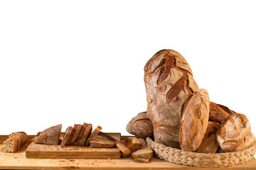
[[[26,132],[14,132],[3,142],[1,152],[17,152],[28,142]]]

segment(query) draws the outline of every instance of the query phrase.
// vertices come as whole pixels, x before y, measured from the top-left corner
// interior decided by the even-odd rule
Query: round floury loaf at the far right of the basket
[[[217,142],[224,152],[236,152],[255,143],[250,122],[245,115],[233,113],[217,132]]]

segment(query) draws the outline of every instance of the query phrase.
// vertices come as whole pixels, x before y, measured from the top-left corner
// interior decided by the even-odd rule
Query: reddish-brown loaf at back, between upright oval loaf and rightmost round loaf
[[[210,113],[209,113],[209,120],[221,123],[226,118],[228,118],[229,115],[235,113],[234,111],[231,111],[226,106],[210,102]]]

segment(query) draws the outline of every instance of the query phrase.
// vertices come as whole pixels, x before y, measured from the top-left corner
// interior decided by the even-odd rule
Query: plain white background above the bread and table
[[[161,49],[256,134],[255,21],[254,1],[0,1],[0,135],[84,122],[129,135]]]

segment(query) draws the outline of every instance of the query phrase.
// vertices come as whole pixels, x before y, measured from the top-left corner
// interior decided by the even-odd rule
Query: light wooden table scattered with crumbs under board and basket
[[[0,135],[0,143],[8,136]],[[34,135],[29,135],[28,139]],[[122,159],[27,159],[26,147],[12,153],[0,152],[0,169],[195,169],[191,166],[171,164],[160,159],[152,159],[150,163],[138,163],[129,158]],[[206,168],[198,168],[206,169]],[[210,170],[218,168],[208,168]],[[224,169],[256,169],[256,159],[250,162]]]

